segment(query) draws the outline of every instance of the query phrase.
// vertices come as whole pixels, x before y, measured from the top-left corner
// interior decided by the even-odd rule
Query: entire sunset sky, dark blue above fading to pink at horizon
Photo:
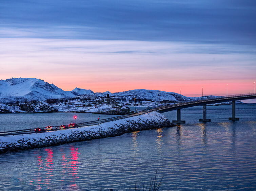
[[[256,1],[1,0],[0,79],[63,90],[253,92]]]

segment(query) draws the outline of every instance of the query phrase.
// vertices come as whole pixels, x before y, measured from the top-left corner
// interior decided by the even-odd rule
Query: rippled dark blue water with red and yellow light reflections
[[[0,190],[129,190],[156,170],[160,190],[256,190],[256,105],[236,108],[239,121],[228,120],[231,105],[208,106],[208,123],[198,122],[202,107],[193,107],[181,110],[186,124],[178,127],[0,155]],[[164,115],[174,120],[176,111]],[[47,120],[30,116],[32,124]]]

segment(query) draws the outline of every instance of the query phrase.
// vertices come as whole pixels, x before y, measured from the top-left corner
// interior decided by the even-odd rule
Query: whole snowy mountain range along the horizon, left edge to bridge
[[[75,97],[110,97],[123,102],[152,101],[163,103],[178,103],[212,99],[218,96],[186,97],[175,92],[161,90],[134,89],[111,93],[109,91],[94,93],[92,90],[76,87],[72,91],[61,88],[37,78],[10,78],[0,80],[0,102],[26,102],[32,100],[45,101],[49,99],[63,99]],[[91,95],[91,96],[90,96]]]

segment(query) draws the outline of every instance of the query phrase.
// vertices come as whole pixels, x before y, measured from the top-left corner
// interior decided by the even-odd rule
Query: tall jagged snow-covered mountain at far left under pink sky
[[[91,93],[92,91],[79,88],[75,88],[73,91],[64,91],[54,84],[37,78],[0,80],[0,102],[73,98],[86,92]]]

